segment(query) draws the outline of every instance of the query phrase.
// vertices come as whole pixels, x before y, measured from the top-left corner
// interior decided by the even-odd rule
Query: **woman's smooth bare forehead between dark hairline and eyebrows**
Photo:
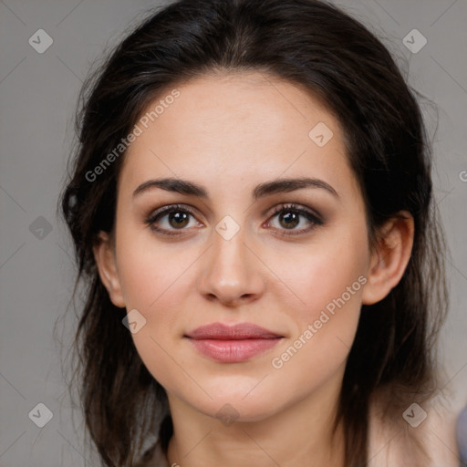
[[[120,172],[122,190],[161,174],[221,186],[258,175],[351,175],[343,132],[324,103],[259,72],[206,75],[167,88],[138,125]]]

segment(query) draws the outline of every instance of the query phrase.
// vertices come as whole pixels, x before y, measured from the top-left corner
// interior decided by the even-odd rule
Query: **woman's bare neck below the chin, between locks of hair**
[[[333,431],[337,399],[338,391],[327,390],[262,420],[227,425],[169,395],[169,465],[344,466],[342,426]]]

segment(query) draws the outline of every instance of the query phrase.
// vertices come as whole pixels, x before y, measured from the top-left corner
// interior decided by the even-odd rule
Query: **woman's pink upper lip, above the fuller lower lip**
[[[202,327],[197,327],[186,337],[192,339],[222,339],[222,340],[241,340],[241,339],[270,339],[283,337],[273,331],[254,325],[253,323],[240,323],[233,326],[223,325],[222,323],[213,323]]]

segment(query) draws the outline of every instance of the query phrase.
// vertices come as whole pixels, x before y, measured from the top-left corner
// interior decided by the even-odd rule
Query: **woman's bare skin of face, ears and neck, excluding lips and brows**
[[[342,431],[332,438],[331,424],[360,307],[381,300],[400,281],[412,218],[405,213],[405,220],[389,220],[370,248],[343,132],[304,89],[257,72],[207,75],[177,88],[181,96],[130,145],[119,175],[115,231],[101,233],[95,247],[112,302],[146,319],[132,337],[168,394],[174,425],[169,462],[344,465]],[[308,137],[318,122],[333,132],[323,147]],[[201,184],[209,198],[160,188],[132,196],[140,183],[162,177]],[[252,200],[259,183],[300,177],[327,182],[337,196],[306,188]],[[290,202],[319,213],[323,223],[301,215],[287,230],[272,210]],[[151,231],[145,223],[150,213],[175,203],[194,209],[190,223],[177,230],[166,215],[159,226],[182,234]],[[240,227],[230,240],[215,230],[226,215]],[[310,226],[306,233],[281,235]],[[365,285],[274,368],[272,359],[359,276]],[[247,361],[219,363],[183,337],[213,322],[250,322],[284,338]],[[236,417],[228,426],[216,415],[225,404]]]

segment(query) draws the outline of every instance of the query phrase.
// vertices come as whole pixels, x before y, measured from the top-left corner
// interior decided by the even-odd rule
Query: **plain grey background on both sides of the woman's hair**
[[[91,62],[154,5],[160,2],[0,0],[3,467],[76,466],[89,459],[82,419],[71,410],[60,370],[75,325],[72,308],[58,322],[58,336],[65,341],[61,353],[53,332],[57,318],[66,314],[75,275],[71,243],[56,217],[57,196],[65,180],[78,89]],[[459,410],[467,402],[467,2],[345,0],[337,5],[383,40],[410,84],[438,109],[434,132],[436,108],[423,107],[434,143],[436,199],[451,248],[443,378]],[[53,38],[43,54],[28,43],[40,28]],[[417,53],[402,42],[414,28],[428,40]],[[53,412],[42,429],[28,417],[39,402]]]

